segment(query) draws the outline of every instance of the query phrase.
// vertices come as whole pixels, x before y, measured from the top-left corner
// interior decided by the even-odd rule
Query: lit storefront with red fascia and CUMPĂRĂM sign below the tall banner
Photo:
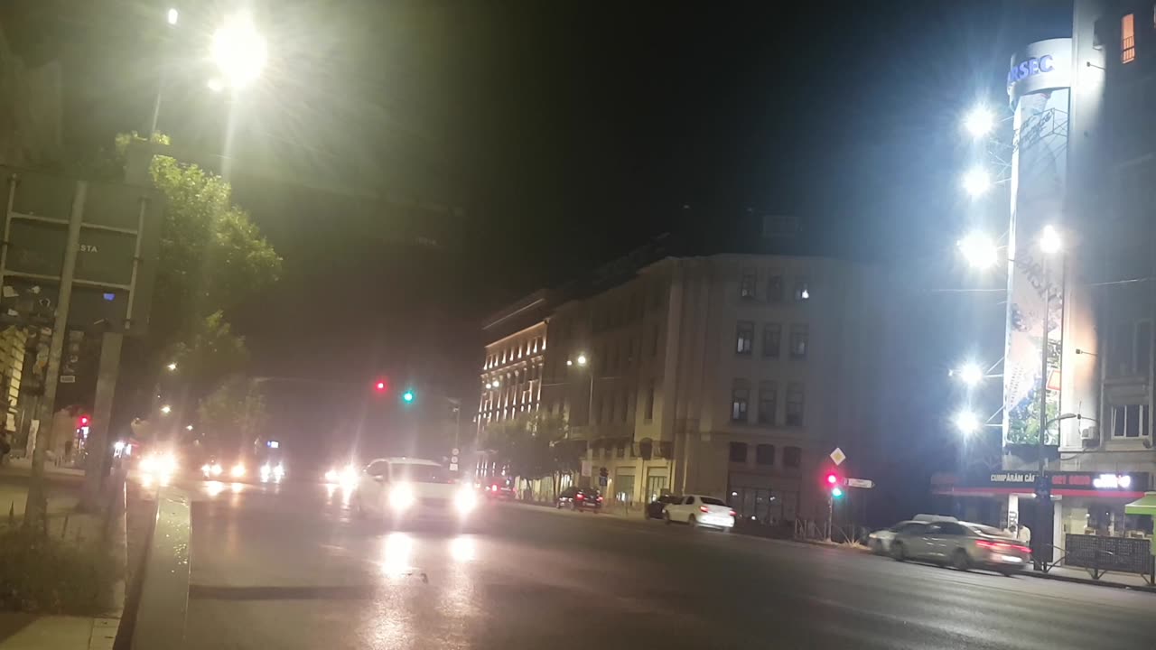
[[[1148,472],[1048,472],[1047,478],[1054,514],[1051,539],[1058,547],[1055,560],[1062,556],[1067,534],[1151,537],[1151,517],[1125,512],[1125,505],[1151,488]],[[951,497],[951,514],[961,518],[1001,529],[1016,524],[1032,527],[1039,508],[1036,482],[1036,472],[992,472],[964,478],[936,474],[932,478],[932,492]]]

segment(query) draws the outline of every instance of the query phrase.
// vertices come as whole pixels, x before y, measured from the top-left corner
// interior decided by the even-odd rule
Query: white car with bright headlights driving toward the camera
[[[354,508],[361,514],[402,520],[418,517],[466,518],[477,507],[477,490],[462,485],[439,463],[422,458],[371,460],[357,480]]]

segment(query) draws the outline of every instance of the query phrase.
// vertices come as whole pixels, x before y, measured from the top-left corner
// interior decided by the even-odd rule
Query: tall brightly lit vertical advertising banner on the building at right
[[[1064,229],[1070,46],[1068,38],[1033,43],[1011,59],[1008,74],[1015,140],[1003,360],[1005,446],[1038,444],[1040,391],[1046,391],[1046,418],[1059,415],[1064,252],[1045,256],[1039,238],[1046,226]],[[1044,444],[1059,442],[1059,427],[1052,424]]]

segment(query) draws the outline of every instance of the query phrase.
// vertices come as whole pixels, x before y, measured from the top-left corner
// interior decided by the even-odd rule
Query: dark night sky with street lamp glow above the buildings
[[[203,89],[203,43],[236,2],[195,3],[169,45],[165,2],[105,5],[53,22],[62,0],[18,0],[0,19],[25,21],[7,30],[25,56],[60,53],[76,150],[143,130],[168,67],[161,130],[228,156],[286,258],[234,315],[253,374],[387,369],[470,398],[482,316],[666,230],[793,214],[807,250],[947,268],[926,260],[1006,219],[961,195],[961,116],[1006,105],[1011,50],[1070,24],[1043,1],[258,2],[269,67],[230,109]],[[464,214],[399,216],[380,200],[399,192]],[[942,296],[968,330],[976,310]],[[955,353],[927,344],[939,356],[902,363],[939,374]]]

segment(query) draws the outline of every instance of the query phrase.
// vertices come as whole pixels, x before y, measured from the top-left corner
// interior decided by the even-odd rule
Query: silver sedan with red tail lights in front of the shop
[[[1008,533],[969,522],[913,522],[891,540],[891,556],[1010,576],[1028,563],[1031,551]]]

